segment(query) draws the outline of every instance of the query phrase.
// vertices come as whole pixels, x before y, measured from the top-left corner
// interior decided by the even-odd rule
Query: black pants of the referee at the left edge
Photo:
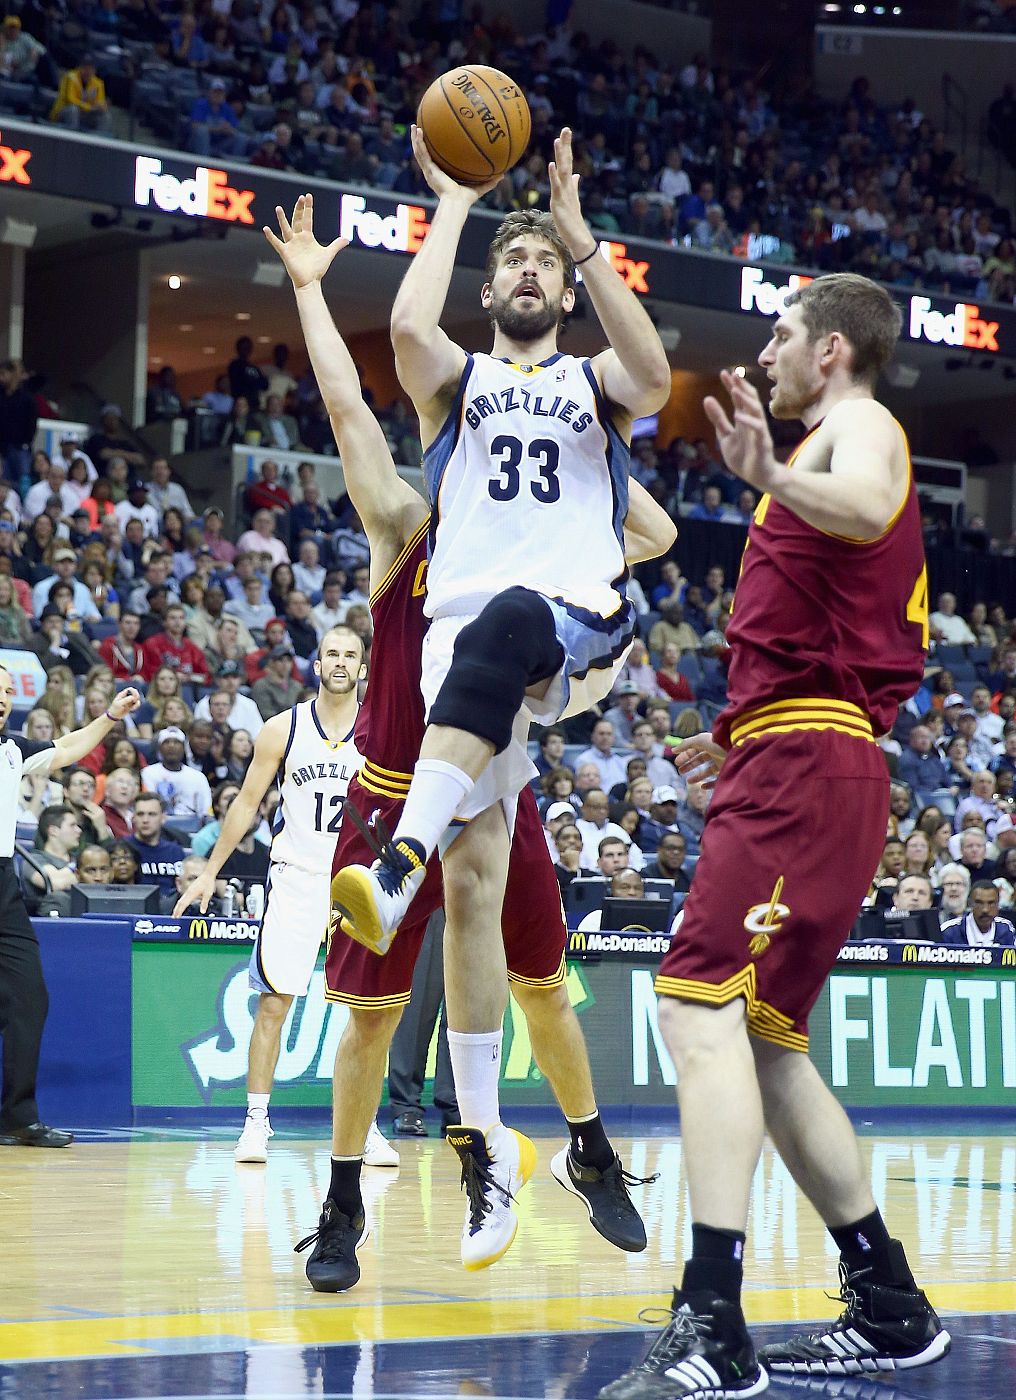
[[[24,1128],[39,1120],[35,1081],[48,1011],[39,941],[28,918],[14,862],[0,858],[0,1130]]]

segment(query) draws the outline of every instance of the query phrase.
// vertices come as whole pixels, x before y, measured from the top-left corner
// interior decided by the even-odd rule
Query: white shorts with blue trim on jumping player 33
[[[505,808],[508,830],[512,832],[515,829],[515,798],[537,776],[536,764],[526,749],[529,727],[532,724],[554,724],[557,720],[570,714],[581,714],[598,704],[610,693],[631,651],[633,631],[627,630],[626,624],[619,626],[613,634],[607,634],[607,647],[605,647],[602,630],[577,622],[571,613],[549,598],[544,598],[544,602],[554,615],[554,630],[565,655],[564,665],[551,679],[542,700],[526,697],[515,715],[508,748],[495,753],[476,780],[473,791],[456,812],[460,820],[469,822],[480,812],[486,812],[488,806],[501,802]],[[455,638],[476,616],[476,613],[456,613],[435,617],[427,630],[421,690],[428,715],[451,669]],[[634,612],[631,629],[634,629]],[[609,654],[610,650],[617,651],[616,658]]]

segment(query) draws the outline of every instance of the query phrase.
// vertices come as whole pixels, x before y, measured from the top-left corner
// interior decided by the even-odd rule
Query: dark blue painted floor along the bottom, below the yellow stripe
[[[1016,1315],[950,1316],[952,1355],[919,1371],[807,1379],[771,1378],[774,1400],[1012,1400]],[[0,1364],[3,1400],[157,1397],[364,1397],[400,1400],[487,1396],[490,1400],[593,1400],[641,1357],[641,1327],[526,1337],[434,1338],[348,1347],[244,1347],[242,1338],[172,1338],[150,1357]],[[756,1344],[786,1327],[754,1327]],[[239,1343],[239,1345],[238,1345]]]

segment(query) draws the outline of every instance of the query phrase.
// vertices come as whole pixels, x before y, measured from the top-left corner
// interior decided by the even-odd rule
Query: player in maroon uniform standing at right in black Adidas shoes
[[[891,1371],[949,1351],[875,1205],[847,1114],[807,1056],[807,1014],[886,833],[876,741],[924,672],[928,584],[907,440],[875,400],[900,314],[876,283],[820,277],[786,300],[759,364],[770,412],[809,434],[777,462],[756,389],[705,407],[726,465],[763,493],[728,629],[726,710],[683,746],[715,776],[703,854],[656,979],[677,1067],[693,1253],[672,1317],[609,1400],[753,1396],[774,1372]],[[717,776],[718,774],[718,776]],[[764,1347],[740,1309],[763,1131],[840,1249],[838,1322]]]

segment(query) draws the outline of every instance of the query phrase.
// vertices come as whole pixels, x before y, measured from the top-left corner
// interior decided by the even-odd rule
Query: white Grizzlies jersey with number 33
[[[624,602],[628,445],[588,360],[469,356],[424,473],[430,617],[514,584],[605,617]]]

